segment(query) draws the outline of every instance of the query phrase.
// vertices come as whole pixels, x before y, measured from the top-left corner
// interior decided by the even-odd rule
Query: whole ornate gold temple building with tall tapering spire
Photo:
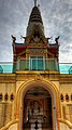
[[[59,37],[45,37],[37,0],[21,38],[12,36],[13,72],[0,66],[0,130],[72,130],[72,74],[60,74]]]

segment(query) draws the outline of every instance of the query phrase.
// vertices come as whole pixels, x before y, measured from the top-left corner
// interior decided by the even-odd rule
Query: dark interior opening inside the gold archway
[[[29,89],[24,98],[23,109],[23,128],[24,130],[34,129],[34,122],[38,121],[38,127],[52,130],[52,96],[47,90],[42,87]]]

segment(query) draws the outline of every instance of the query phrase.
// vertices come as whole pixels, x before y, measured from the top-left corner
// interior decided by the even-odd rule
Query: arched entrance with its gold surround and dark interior
[[[58,130],[60,117],[57,87],[48,80],[28,80],[17,91],[16,119],[19,130],[29,130],[34,120],[41,123],[41,130]]]

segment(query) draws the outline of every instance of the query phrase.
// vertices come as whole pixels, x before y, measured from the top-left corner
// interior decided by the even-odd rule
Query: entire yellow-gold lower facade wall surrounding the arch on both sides
[[[16,115],[16,95],[23,83],[31,79],[47,80],[55,84],[58,89],[59,98],[62,93],[63,101],[60,101],[59,118],[67,119],[72,122],[72,75],[60,75],[56,72],[16,72],[16,74],[1,74],[0,75],[0,93],[2,93],[2,101],[0,101],[0,128],[11,120],[14,120]],[[4,96],[8,93],[8,101]],[[14,94],[13,101],[11,101],[11,94]],[[69,100],[66,99],[66,94],[69,95]]]

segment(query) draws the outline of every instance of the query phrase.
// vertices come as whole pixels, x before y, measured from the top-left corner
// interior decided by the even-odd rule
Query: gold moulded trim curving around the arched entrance
[[[58,89],[57,89],[57,87],[52,82],[52,81],[49,81],[49,80],[46,80],[46,79],[39,79],[39,80],[34,80],[34,79],[31,79],[31,80],[28,80],[27,82],[25,82],[25,83],[23,83],[20,87],[19,87],[19,89],[18,89],[18,91],[17,91],[17,95],[16,95],[16,106],[15,106],[15,114],[16,114],[16,119],[19,119],[20,117],[20,114],[19,114],[19,106],[20,106],[20,104],[21,104],[21,100],[20,100],[20,98],[23,98],[23,92],[24,92],[24,96],[25,96],[25,94],[26,94],[26,92],[31,88],[31,84],[32,83],[35,83],[35,82],[40,82],[41,84],[43,83],[43,86],[45,84],[45,86],[49,86],[51,87],[51,89],[53,88],[53,91],[54,91],[54,93],[55,93],[55,95],[56,95],[56,118],[58,119],[58,118],[60,118],[60,100],[59,100],[59,91],[58,91]],[[44,89],[46,89],[47,91],[48,91],[48,88],[44,88]],[[52,95],[53,96],[53,95]],[[20,106],[21,107],[21,106]],[[54,122],[53,122],[54,123]],[[58,123],[58,130],[60,130],[59,129],[59,122],[57,122]]]

